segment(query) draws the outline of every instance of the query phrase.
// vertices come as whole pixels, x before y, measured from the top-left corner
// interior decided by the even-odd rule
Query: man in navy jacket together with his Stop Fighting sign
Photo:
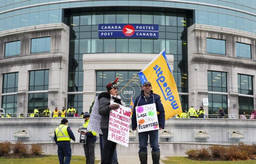
[[[139,158],[142,164],[147,163],[147,141],[148,135],[150,137],[150,147],[152,148],[152,160],[154,164],[159,164],[160,160],[160,149],[158,145],[158,128],[165,128],[165,110],[163,109],[163,105],[158,94],[154,94],[152,90],[151,83],[146,81],[143,83],[142,91],[140,95],[136,98],[133,107],[132,113],[132,130],[139,130]],[[154,105],[153,105],[154,104]],[[147,108],[143,108],[142,106],[147,105]],[[146,116],[152,116],[154,118],[154,107],[156,107],[156,111],[159,113],[157,116],[157,121],[153,121],[153,119],[146,120]],[[137,111],[136,111],[137,108]],[[149,110],[153,109],[153,110]],[[148,110],[145,116],[144,110]],[[141,114],[142,113],[142,114]],[[137,122],[138,117],[145,117],[145,119],[141,119]],[[152,130],[146,131],[143,129],[151,128]],[[154,130],[157,129],[157,130]],[[148,130],[148,129],[147,129]]]

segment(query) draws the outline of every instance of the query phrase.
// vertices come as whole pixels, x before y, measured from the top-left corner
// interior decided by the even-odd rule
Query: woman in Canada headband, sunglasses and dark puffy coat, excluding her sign
[[[108,140],[109,129],[109,115],[110,110],[118,109],[120,105],[125,106],[121,97],[117,95],[117,80],[118,78],[108,83],[105,87],[107,92],[102,92],[99,97],[99,114],[101,117],[101,131],[103,134],[103,150],[101,154],[101,164],[110,164],[113,159],[114,149],[116,148],[116,142]],[[116,102],[117,104],[110,105],[110,102]],[[118,105],[120,104],[120,105]]]

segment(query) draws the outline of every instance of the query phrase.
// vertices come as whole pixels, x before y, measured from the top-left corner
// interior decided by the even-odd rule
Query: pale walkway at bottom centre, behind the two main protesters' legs
[[[138,156],[117,156],[117,158],[118,158],[119,164],[140,164],[139,155]],[[159,161],[160,164],[164,164],[161,161],[161,159],[165,160],[165,157],[160,157],[160,161]],[[97,156],[96,160],[101,160],[101,158],[99,156]],[[153,164],[151,156],[147,157],[147,163]]]

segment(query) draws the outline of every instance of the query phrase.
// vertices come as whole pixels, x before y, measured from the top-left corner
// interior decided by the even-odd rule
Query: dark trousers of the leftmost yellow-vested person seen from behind
[[[71,160],[70,142],[58,142],[58,156],[60,164],[69,164]],[[65,161],[64,161],[65,157]]]

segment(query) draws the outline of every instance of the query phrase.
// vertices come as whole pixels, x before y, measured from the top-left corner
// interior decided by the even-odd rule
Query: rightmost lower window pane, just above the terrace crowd
[[[254,103],[252,97],[242,97],[238,96],[238,110],[239,114],[244,113],[246,115],[251,115]]]

